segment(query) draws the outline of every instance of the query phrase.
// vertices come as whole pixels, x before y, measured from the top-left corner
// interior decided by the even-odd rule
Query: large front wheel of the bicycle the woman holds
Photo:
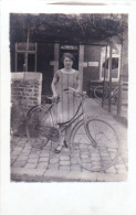
[[[115,129],[98,118],[88,118],[76,123],[71,135],[71,150],[76,162],[92,172],[102,172],[113,166],[119,155],[119,141]],[[93,141],[96,146],[93,146]]]

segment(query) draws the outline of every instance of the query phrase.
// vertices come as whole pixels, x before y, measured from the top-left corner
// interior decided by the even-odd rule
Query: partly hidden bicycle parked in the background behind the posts
[[[108,87],[108,85],[107,84],[105,84],[105,86],[103,87],[103,86],[97,86],[97,87],[95,87],[95,89],[94,89],[94,96],[95,96],[95,98],[103,98],[104,97],[104,99],[107,99],[108,98],[108,96],[109,96],[109,87]],[[116,104],[116,101],[117,101],[117,94],[118,94],[118,86],[116,86],[112,92],[111,92],[111,97],[112,97],[112,101],[114,103],[114,104]]]

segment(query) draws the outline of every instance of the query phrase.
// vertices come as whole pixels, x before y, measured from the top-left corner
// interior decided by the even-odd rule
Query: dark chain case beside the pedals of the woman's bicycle
[[[36,125],[36,129],[39,130],[39,135],[41,137],[46,137],[49,140],[57,142],[60,139],[60,131],[57,128]]]

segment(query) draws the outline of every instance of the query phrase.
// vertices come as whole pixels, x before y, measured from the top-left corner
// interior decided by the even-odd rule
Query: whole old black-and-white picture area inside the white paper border
[[[128,14],[9,18],[10,181],[127,181]]]

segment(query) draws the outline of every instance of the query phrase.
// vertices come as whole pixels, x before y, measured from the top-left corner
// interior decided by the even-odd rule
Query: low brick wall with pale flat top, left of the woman
[[[41,73],[11,73],[11,99],[18,100],[24,112],[41,104]]]

